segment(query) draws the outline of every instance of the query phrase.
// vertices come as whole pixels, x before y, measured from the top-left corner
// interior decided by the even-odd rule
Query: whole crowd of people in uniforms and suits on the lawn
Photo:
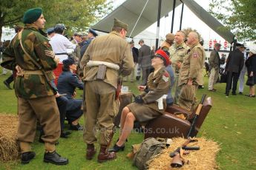
[[[29,163],[36,155],[30,147],[36,134],[36,122],[42,129],[40,141],[45,143],[45,162],[68,163],[67,158],[56,152],[55,146],[59,137],[67,138],[71,133],[64,130],[67,119],[70,130],[83,130],[87,160],[92,160],[96,154],[94,144],[98,141],[98,162],[102,163],[116,159],[116,152],[125,149],[135,120],[145,122],[157,118],[174,103],[191,113],[197,107],[196,93],[198,86],[203,85],[202,70],[206,59],[197,32],[188,35],[182,30],[168,33],[160,47],[151,50],[142,39],[140,49],[134,47],[134,41],[128,43],[125,40],[128,24],[117,18],[114,18],[111,33],[98,36],[95,30],[89,29],[87,38],[74,33],[72,41],[65,37],[64,24],[48,28],[46,35],[42,31],[45,22],[41,8],[27,10],[23,16],[24,27],[16,31],[2,55],[1,67],[12,70],[15,79],[22,163]],[[244,80],[240,72],[246,66],[253,79],[247,96],[255,97],[256,48],[252,47],[249,55],[244,55],[245,47],[236,46],[226,60],[226,96],[231,89],[232,95],[236,95],[237,80],[239,76],[240,83]],[[214,44],[209,59],[211,92],[217,90],[214,84],[219,77],[220,61],[223,61],[219,50],[220,44]],[[58,66],[62,66],[62,73],[55,78],[53,70]],[[127,81],[131,75],[130,80],[134,81],[137,69],[142,70],[138,86],[140,95],[122,109],[121,133],[109,149],[114,135],[114,118],[119,111],[122,78]],[[54,80],[57,81],[54,83]],[[137,80],[140,81],[140,76]],[[11,89],[9,81],[4,84]],[[83,90],[83,100],[75,98],[76,88]],[[174,89],[174,97],[171,89]],[[243,93],[242,87],[239,90]],[[85,126],[79,124],[82,115]]]

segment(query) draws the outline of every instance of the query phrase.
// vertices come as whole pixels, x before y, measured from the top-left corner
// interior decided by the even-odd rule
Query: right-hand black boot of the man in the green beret
[[[54,152],[45,152],[44,155],[45,163],[53,163],[55,165],[66,165],[68,164],[68,159],[60,156],[56,151]]]

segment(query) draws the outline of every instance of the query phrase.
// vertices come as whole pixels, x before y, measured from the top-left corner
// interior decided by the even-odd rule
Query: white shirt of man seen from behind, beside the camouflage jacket
[[[66,38],[63,35],[60,35],[56,33],[53,35],[52,38],[50,38],[50,45],[53,48],[53,52],[55,54],[58,53],[69,53],[70,50],[73,52],[73,50],[76,48],[76,44],[71,43],[68,38]],[[68,58],[68,55],[57,55],[59,58],[59,61],[63,61]]]

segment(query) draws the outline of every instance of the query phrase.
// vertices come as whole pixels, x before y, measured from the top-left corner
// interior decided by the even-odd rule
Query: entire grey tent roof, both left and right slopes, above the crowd
[[[147,0],[127,0],[108,14],[108,16],[105,16],[105,18],[93,25],[92,28],[94,30],[108,33],[113,26],[114,18],[118,18],[119,20],[128,24],[127,35],[130,36],[131,34],[131,37],[134,37],[157,21],[157,9],[159,1],[149,0],[148,4],[145,6],[146,2]],[[229,41],[229,43],[233,41],[234,34],[230,31],[224,32],[223,30],[220,30],[219,28],[223,27],[223,24],[211,16],[206,10],[203,9],[203,7],[200,7],[200,5],[193,0],[183,0],[183,2],[198,18],[205,22],[217,34]],[[181,1],[176,1],[175,6],[177,7],[180,4]],[[144,6],[145,10],[140,17],[137,26],[134,28],[134,25],[136,24]],[[160,17],[162,18],[172,10],[173,0],[162,0],[161,6],[162,9]],[[133,28],[134,31],[131,33]]]

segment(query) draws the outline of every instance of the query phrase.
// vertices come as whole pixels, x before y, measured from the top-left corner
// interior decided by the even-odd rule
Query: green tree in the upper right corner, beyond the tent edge
[[[240,41],[256,39],[255,0],[211,0],[209,12],[223,22]]]

